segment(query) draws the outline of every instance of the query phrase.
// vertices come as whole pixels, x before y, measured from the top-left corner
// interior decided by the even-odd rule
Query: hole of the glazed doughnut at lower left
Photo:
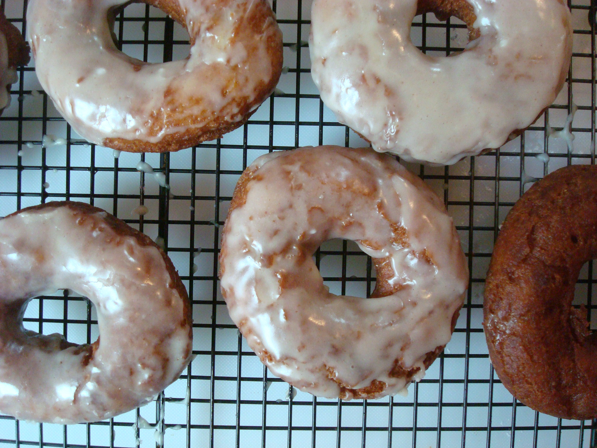
[[[42,335],[63,336],[69,345],[93,343],[99,336],[96,306],[72,290],[28,300],[23,310],[23,328]]]

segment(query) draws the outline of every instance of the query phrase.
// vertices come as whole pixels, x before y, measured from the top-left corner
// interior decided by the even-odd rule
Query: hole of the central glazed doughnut
[[[313,255],[324,285],[337,295],[367,298],[376,287],[376,268],[354,241],[325,241]]]

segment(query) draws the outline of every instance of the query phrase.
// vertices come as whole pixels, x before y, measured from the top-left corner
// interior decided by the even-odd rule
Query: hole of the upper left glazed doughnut
[[[177,19],[177,15],[174,14],[176,11],[171,12],[172,15],[169,16],[151,3],[128,3],[113,8],[108,20],[112,24],[112,40],[116,48],[139,62],[161,63],[166,60],[186,59],[189,57],[190,38],[184,20],[180,22]],[[159,2],[154,3],[157,5]],[[173,19],[173,23],[155,20],[166,17]],[[122,20],[124,18],[127,20]],[[165,43],[144,44],[147,41]]]

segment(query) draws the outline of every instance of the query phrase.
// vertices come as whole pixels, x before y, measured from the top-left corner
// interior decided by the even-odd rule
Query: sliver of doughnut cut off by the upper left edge
[[[10,106],[10,86],[17,82],[16,68],[29,63],[29,45],[19,29],[0,10],[0,115]],[[2,86],[5,88],[2,88]]]

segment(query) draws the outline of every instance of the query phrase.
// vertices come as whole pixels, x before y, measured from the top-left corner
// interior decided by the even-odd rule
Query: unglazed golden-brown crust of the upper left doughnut
[[[225,2],[225,0],[222,0]],[[184,11],[181,11],[176,2],[170,0],[146,0],[147,4],[158,7],[167,13],[173,20],[179,22],[181,26],[186,27],[184,20]],[[261,34],[265,26],[276,26],[276,18],[273,15],[269,4],[265,1],[254,2],[248,16],[244,17],[248,24],[241,32],[237,33],[236,38],[242,39],[243,35]],[[267,25],[271,20],[272,25]],[[193,36],[190,36],[190,44],[194,43]],[[157,135],[162,129],[164,123],[167,127],[186,128],[186,131],[179,131],[165,135],[159,142],[150,143],[144,140],[127,140],[121,138],[108,138],[102,142],[103,146],[127,152],[167,152],[179,151],[180,149],[190,148],[201,142],[219,139],[226,133],[235,130],[244,125],[247,120],[256,112],[261,103],[269,96],[282,73],[282,34],[280,32],[269,33],[267,38],[267,55],[272,62],[272,76],[267,82],[260,82],[254,94],[254,99],[248,97],[240,98],[236,101],[235,109],[238,109],[238,116],[242,116],[239,121],[230,122],[225,116],[186,116],[180,118],[176,115],[176,108],[173,110],[163,109],[156,111],[156,116],[152,119],[153,134]],[[251,57],[251,55],[249,55]],[[233,87],[229,92],[230,96],[234,94]],[[196,122],[205,122],[201,128],[193,127]]]

